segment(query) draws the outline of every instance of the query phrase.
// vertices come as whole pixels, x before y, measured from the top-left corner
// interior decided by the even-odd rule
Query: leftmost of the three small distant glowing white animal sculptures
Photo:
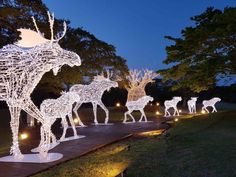
[[[175,96],[172,98],[172,100],[166,100],[164,102],[164,106],[165,106],[165,117],[169,117],[171,116],[170,112],[168,111],[168,109],[173,108],[174,109],[174,114],[173,116],[175,116],[176,114],[179,116],[179,110],[177,109],[177,104],[178,102],[180,102],[182,100],[181,97],[179,96]]]

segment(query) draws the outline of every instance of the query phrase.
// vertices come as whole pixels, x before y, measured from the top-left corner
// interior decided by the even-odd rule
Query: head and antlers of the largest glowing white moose
[[[19,40],[16,45],[24,48],[26,51],[29,50],[31,53],[37,53],[37,57],[41,62],[44,63],[43,67],[45,71],[53,70],[53,74],[57,75],[58,71],[63,65],[80,66],[81,60],[79,55],[74,52],[64,50],[60,47],[58,42],[66,34],[66,23],[63,23],[64,30],[61,35],[57,34],[57,38],[54,39],[53,25],[54,25],[54,14],[48,14],[48,22],[50,25],[51,39],[46,39],[43,34],[39,31],[34,17],[33,23],[36,31],[30,29],[18,29],[21,32],[21,40]]]

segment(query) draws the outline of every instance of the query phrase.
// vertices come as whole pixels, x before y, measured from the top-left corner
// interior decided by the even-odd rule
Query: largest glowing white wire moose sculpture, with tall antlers
[[[63,65],[80,66],[80,57],[73,52],[63,50],[58,41],[66,34],[66,23],[61,37],[53,38],[54,15],[48,12],[51,39],[45,39],[40,33],[33,18],[37,32],[19,29],[21,40],[15,45],[6,45],[0,49],[0,100],[6,101],[11,114],[11,130],[13,145],[10,154],[13,161],[21,161],[24,155],[19,149],[18,131],[20,111],[24,110],[37,119],[42,125],[45,119],[39,109],[31,101],[30,95],[42,76],[53,70],[56,75]],[[41,131],[40,157],[47,156],[47,139],[52,133],[44,128]],[[34,154],[31,154],[34,155]],[[35,155],[37,156],[37,155]],[[11,156],[9,158],[12,158]]]

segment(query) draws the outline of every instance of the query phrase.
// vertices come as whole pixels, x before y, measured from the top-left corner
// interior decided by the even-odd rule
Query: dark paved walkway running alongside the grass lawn
[[[108,126],[78,128],[78,134],[85,135],[85,138],[63,142],[50,151],[62,153],[62,159],[44,164],[0,162],[0,177],[21,177],[33,175],[54,165],[89,153],[102,146],[119,141],[133,133],[157,130],[166,127],[165,124],[161,124],[160,121],[155,119],[153,122],[147,123],[115,123],[114,125]]]

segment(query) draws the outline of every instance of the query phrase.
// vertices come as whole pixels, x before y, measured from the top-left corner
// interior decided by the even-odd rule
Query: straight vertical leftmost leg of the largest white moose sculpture
[[[23,159],[24,156],[20,151],[19,140],[18,140],[19,119],[20,119],[21,109],[18,107],[9,106],[9,110],[11,114],[10,124],[11,124],[12,138],[13,138],[10,154],[13,154],[15,159]]]

